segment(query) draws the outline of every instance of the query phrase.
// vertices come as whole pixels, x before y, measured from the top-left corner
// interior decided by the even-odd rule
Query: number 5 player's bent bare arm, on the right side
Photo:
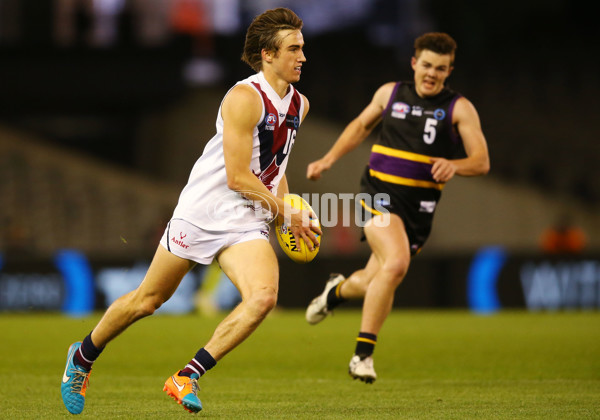
[[[477,176],[485,175],[490,170],[485,136],[481,130],[479,115],[473,104],[466,98],[460,98],[454,107],[452,123],[457,127],[467,157],[464,159],[447,160],[432,158],[431,173],[437,182],[448,182],[454,175]]]

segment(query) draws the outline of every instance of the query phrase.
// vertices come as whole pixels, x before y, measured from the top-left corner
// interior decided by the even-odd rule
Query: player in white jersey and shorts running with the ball
[[[308,223],[311,215],[286,211],[281,198],[288,192],[287,158],[309,108],[291,85],[300,80],[306,61],[301,29],[302,20],[285,8],[264,12],[248,28],[242,60],[257,74],[226,94],[217,134],[194,166],[139,287],[117,299],[92,332],[69,348],[61,384],[69,412],[83,410],[92,364],[104,347],[153,314],[196,263],[216,258],[242,302],[163,388],[186,410],[200,411],[199,377],[244,341],[277,301],[279,268],[268,241],[270,219],[285,214],[296,240],[302,238],[311,249],[318,245],[315,233],[321,232]],[[182,337],[172,342],[187,344]]]

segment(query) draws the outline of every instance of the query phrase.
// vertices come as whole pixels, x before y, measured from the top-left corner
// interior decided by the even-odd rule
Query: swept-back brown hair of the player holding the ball
[[[278,33],[285,29],[302,29],[302,19],[290,9],[280,7],[267,10],[254,18],[246,32],[242,61],[254,71],[262,70],[263,49],[277,52],[281,45]]]

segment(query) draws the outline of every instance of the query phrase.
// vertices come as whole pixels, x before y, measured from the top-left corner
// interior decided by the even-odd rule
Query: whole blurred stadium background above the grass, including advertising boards
[[[375,136],[318,183],[306,164],[379,85],[412,77],[415,36],[458,42],[449,84],[479,110],[492,171],[445,189],[397,307],[600,306],[598,39],[577,4],[0,0],[0,310],[87,313],[116,293],[102,279],[141,280],[224,92],[251,74],[245,29],[276,6],[305,22],[297,193],[357,192]],[[586,247],[545,255],[541,235],[564,217]],[[359,237],[327,228],[305,266],[280,254],[280,305],[304,306],[329,272],[360,267]],[[194,290],[207,276],[195,271]]]

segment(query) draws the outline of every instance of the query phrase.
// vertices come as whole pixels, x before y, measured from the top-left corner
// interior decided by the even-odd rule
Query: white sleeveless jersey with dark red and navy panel
[[[261,118],[254,128],[249,169],[277,195],[304,114],[304,101],[291,85],[288,94],[280,98],[262,72],[238,82],[236,86],[238,84],[252,86],[263,105]],[[194,164],[188,183],[179,196],[173,218],[184,219],[215,232],[265,228],[265,224],[274,216],[270,209],[262,208],[257,202],[227,187],[221,107],[222,103],[217,115],[217,133]]]

